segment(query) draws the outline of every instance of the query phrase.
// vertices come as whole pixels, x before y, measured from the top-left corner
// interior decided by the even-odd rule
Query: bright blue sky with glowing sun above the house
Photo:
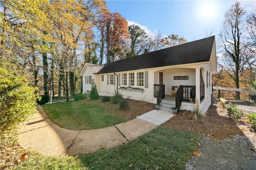
[[[110,12],[119,12],[128,25],[137,24],[151,37],[160,30],[187,41],[206,37],[206,30],[218,36],[225,12],[233,0],[106,0]],[[246,11],[256,9],[256,0],[240,0]]]

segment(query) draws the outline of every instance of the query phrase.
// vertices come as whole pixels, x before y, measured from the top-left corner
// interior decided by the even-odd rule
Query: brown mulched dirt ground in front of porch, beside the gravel
[[[237,123],[226,115],[227,110],[222,105],[211,105],[206,113],[206,117],[202,121],[195,121],[192,118],[191,111],[179,111],[176,116],[164,123],[163,126],[183,131],[198,132],[203,136],[215,139],[230,138],[236,134],[256,137],[256,133],[252,132],[250,125],[246,123],[246,119],[248,119],[246,114]]]

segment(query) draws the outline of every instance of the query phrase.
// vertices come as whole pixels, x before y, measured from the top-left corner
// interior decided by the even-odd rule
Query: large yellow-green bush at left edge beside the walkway
[[[16,70],[0,68],[0,150],[16,141],[20,123],[36,113],[36,88]]]

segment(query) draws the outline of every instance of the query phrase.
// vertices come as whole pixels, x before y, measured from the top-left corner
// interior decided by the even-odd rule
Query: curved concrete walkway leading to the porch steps
[[[168,121],[171,112],[153,110],[136,119],[111,127],[68,130],[50,121],[40,105],[37,113],[18,130],[22,148],[46,156],[88,154],[100,148],[120,146]]]

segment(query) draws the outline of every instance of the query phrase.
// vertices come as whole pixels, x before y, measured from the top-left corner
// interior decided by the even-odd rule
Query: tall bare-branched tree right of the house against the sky
[[[229,74],[235,82],[236,88],[239,88],[239,75],[242,72],[244,64],[244,56],[242,53],[242,33],[243,33],[243,17],[245,14],[244,8],[239,2],[233,4],[225,13],[223,28],[219,34],[224,48],[223,63],[229,68]],[[236,93],[236,99],[240,100],[240,92]]]

